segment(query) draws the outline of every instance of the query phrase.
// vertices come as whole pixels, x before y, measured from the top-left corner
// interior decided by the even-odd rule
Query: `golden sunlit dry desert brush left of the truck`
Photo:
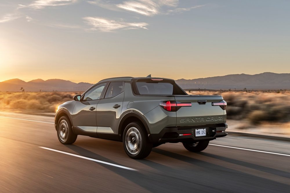
[[[75,92],[5,92],[0,93],[1,108],[35,109],[55,112],[57,106],[73,100]]]

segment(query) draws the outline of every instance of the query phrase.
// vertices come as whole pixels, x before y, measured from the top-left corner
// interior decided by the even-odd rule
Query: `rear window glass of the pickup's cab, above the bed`
[[[169,82],[136,82],[141,95],[172,95],[173,84]]]

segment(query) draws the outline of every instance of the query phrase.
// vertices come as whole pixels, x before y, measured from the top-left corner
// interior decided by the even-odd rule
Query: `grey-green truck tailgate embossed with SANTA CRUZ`
[[[177,103],[191,103],[176,111],[176,126],[211,125],[226,122],[226,111],[212,102],[220,102],[222,96],[175,95]]]

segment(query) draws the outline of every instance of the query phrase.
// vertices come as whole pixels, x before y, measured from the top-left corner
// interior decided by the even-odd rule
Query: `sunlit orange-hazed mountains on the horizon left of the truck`
[[[29,82],[25,82],[20,79],[11,79],[0,82],[0,91],[20,91],[20,88],[23,87],[25,91],[39,92],[41,91],[85,91],[90,88],[93,84],[87,82],[75,83],[69,80],[61,79],[49,79],[42,80],[36,79]]]

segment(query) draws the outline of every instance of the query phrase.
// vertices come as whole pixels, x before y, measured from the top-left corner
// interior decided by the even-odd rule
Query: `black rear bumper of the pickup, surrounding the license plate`
[[[195,137],[195,129],[205,128],[206,136]],[[188,127],[168,127],[161,130],[160,133],[150,134],[149,140],[151,143],[178,143],[178,142],[196,142],[196,141],[211,141],[217,137],[224,137],[228,135],[225,130],[228,124],[215,124],[215,125],[201,125],[201,126],[188,126]],[[189,134],[191,135],[180,135]]]

